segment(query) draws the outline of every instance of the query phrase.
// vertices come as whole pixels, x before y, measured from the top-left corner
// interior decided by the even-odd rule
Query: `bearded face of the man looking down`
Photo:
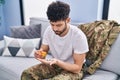
[[[50,22],[50,24],[56,35],[61,35],[67,29],[66,21]]]

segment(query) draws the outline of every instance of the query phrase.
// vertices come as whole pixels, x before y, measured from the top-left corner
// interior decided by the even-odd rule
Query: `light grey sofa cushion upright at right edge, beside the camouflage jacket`
[[[111,50],[107,58],[103,61],[101,65],[102,69],[112,71],[120,75],[120,33],[112,45]]]

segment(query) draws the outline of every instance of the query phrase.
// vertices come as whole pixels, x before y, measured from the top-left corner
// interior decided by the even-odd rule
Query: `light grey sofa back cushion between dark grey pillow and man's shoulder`
[[[35,18],[35,17],[31,17],[30,18],[30,25],[34,25],[34,24],[41,24],[41,37],[44,34],[45,29],[50,25],[49,20],[46,18]]]

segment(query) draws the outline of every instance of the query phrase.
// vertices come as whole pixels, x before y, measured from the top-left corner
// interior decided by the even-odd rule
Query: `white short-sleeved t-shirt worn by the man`
[[[72,55],[89,51],[85,34],[76,26],[70,25],[68,33],[60,37],[49,26],[44,35],[42,44],[48,45],[53,58],[74,63]]]

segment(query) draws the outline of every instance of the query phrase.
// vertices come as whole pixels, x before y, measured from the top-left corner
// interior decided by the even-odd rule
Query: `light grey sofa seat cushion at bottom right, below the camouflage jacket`
[[[115,73],[104,71],[104,70],[96,70],[96,72],[92,75],[87,75],[82,80],[117,80],[118,76]]]

